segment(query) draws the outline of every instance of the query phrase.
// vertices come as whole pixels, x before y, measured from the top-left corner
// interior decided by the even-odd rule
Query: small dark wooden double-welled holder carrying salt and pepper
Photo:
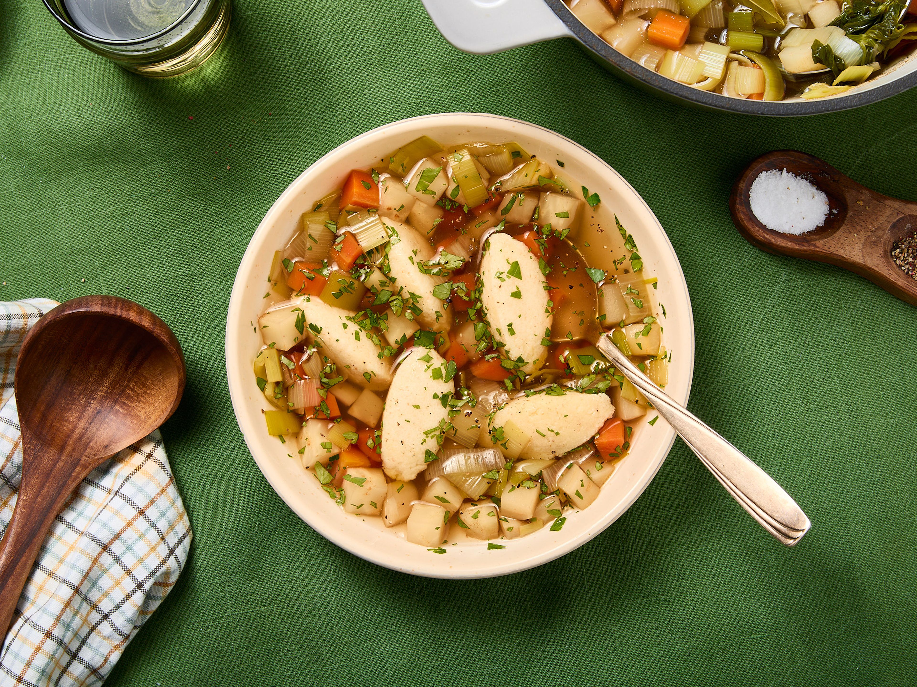
[[[828,197],[824,224],[799,236],[771,231],[751,211],[749,191],[757,175],[786,169],[809,180]],[[917,305],[917,280],[891,259],[892,245],[917,230],[917,202],[889,198],[845,177],[837,169],[797,150],[775,150],[752,162],[735,181],[729,210],[739,233],[758,248],[845,267]]]

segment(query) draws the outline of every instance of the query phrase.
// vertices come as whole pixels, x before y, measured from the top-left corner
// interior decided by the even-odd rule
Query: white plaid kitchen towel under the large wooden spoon
[[[22,449],[13,395],[19,345],[57,305],[0,302],[0,528],[16,506]],[[191,524],[159,431],[96,468],[50,529],[0,653],[0,685],[98,685],[160,605]]]

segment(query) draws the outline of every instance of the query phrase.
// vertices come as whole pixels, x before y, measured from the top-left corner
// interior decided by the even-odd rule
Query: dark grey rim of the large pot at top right
[[[880,100],[885,100],[892,95],[903,93],[917,85],[917,67],[915,67],[910,73],[895,77],[888,83],[883,83],[880,86],[875,86],[866,91],[842,93],[831,98],[816,98],[814,100],[792,102],[767,102],[763,100],[729,98],[719,93],[708,93],[697,88],[691,88],[691,86],[685,85],[684,83],[667,79],[656,71],[646,69],[646,67],[637,64],[634,60],[625,57],[624,54],[613,49],[608,43],[602,40],[602,38],[593,33],[590,28],[580,22],[563,0],[545,0],[545,2],[554,14],[556,14],[567,26],[574,38],[593,54],[601,57],[602,60],[611,62],[615,69],[624,72],[627,77],[637,82],[646,83],[646,85],[651,86],[661,93],[674,95],[681,100],[687,100],[690,103],[716,110],[740,114],[758,114],[763,116],[806,116],[811,114],[825,114],[829,112],[851,110],[856,107],[862,107],[863,105],[878,103]]]

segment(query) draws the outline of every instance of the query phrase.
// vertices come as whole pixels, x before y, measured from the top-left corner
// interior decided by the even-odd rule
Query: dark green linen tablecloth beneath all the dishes
[[[917,89],[811,118],[695,111],[569,40],[460,53],[418,0],[235,0],[215,58],[156,82],[78,46],[38,0],[0,6],[0,300],[126,296],[188,362],[162,434],[196,537],[109,685],[917,682],[917,309],[758,251],[727,207],[739,170],[779,147],[917,200]],[[363,562],[274,494],[226,390],[239,260],[331,147],[446,111],[547,126],[643,195],[691,289],[690,407],[798,499],[813,526],[797,548],[681,442],[611,528],[492,580]]]

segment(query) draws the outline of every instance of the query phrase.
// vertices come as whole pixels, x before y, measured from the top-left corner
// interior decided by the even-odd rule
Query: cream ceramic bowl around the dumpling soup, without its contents
[[[687,402],[694,366],[691,301],[678,257],[655,215],[627,181],[590,151],[540,126],[493,114],[430,114],[380,126],[332,150],[283,191],[252,236],[233,285],[226,320],[229,394],[238,426],[261,472],[286,504],[326,539],[367,561],[415,575],[475,578],[515,573],[576,549],[620,518],[665,460],[675,440],[668,424],[660,420],[652,427],[647,425],[653,413],[641,420],[630,453],[602,487],[601,496],[586,510],[569,514],[563,529],[544,528],[518,540],[501,540],[506,548],[498,551],[475,542],[447,544],[447,553],[436,554],[404,540],[403,533],[395,531],[400,528],[386,530],[381,518],[345,514],[319,488],[315,476],[301,467],[293,444],[283,445],[267,434],[261,411],[269,406],[251,372],[261,345],[253,323],[263,308],[271,258],[292,236],[300,214],[337,189],[350,169],[368,168],[424,134],[446,145],[517,141],[539,158],[563,160],[563,171],[569,177],[601,195],[600,208],[607,215],[605,231],[615,230],[613,214],[617,214],[635,237],[646,273],[658,277],[657,300],[667,312],[666,317],[660,316],[663,343],[672,351],[667,391],[679,402]],[[593,245],[602,240],[601,234],[591,238]],[[580,234],[580,242],[583,239]]]

